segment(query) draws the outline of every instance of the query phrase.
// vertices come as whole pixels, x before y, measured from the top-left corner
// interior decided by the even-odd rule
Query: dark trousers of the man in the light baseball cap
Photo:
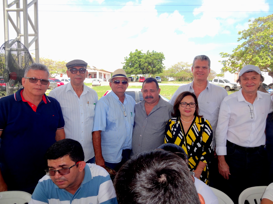
[[[257,150],[240,150],[227,144],[225,161],[229,165],[229,179],[223,180],[222,191],[236,204],[240,193],[253,186],[267,186],[268,163],[263,146]]]

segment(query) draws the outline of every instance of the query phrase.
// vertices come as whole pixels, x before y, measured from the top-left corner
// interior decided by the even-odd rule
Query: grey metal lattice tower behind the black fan
[[[27,0],[22,0],[22,2],[23,8],[20,8],[20,0],[14,0],[10,4],[8,4],[8,0],[3,0],[5,42],[9,40],[8,21],[10,21],[17,33],[16,38],[14,38],[15,40],[21,41],[21,37],[23,36],[23,44],[27,49],[35,42],[35,62],[39,63],[38,0],[32,0],[29,4]],[[32,5],[34,6],[34,23],[28,14],[28,8]],[[16,12],[16,24],[8,14],[9,12]],[[23,12],[23,33],[21,29],[21,12]],[[30,24],[33,33],[28,33],[28,23]],[[30,42],[29,37],[32,38]]]

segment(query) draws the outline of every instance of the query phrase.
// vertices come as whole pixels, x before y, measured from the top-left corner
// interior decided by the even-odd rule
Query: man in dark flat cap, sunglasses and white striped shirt
[[[81,143],[86,163],[95,163],[92,130],[97,92],[84,84],[87,77],[87,63],[83,60],[72,60],[66,64],[70,83],[59,86],[49,92],[61,104],[65,121],[66,138]]]

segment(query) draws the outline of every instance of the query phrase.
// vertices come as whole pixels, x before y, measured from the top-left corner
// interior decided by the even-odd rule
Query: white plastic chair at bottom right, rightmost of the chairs
[[[239,204],[244,204],[245,200],[247,200],[249,204],[260,204],[266,187],[267,186],[254,186],[245,189],[239,196]]]

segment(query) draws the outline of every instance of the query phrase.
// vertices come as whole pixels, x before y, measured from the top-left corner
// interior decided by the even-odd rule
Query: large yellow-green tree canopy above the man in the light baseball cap
[[[251,20],[248,20],[251,22]],[[253,64],[261,71],[273,71],[273,14],[259,17],[253,20],[247,30],[238,32],[242,35],[238,38],[243,41],[232,52],[232,54],[221,52],[222,72],[238,72],[243,66]]]

